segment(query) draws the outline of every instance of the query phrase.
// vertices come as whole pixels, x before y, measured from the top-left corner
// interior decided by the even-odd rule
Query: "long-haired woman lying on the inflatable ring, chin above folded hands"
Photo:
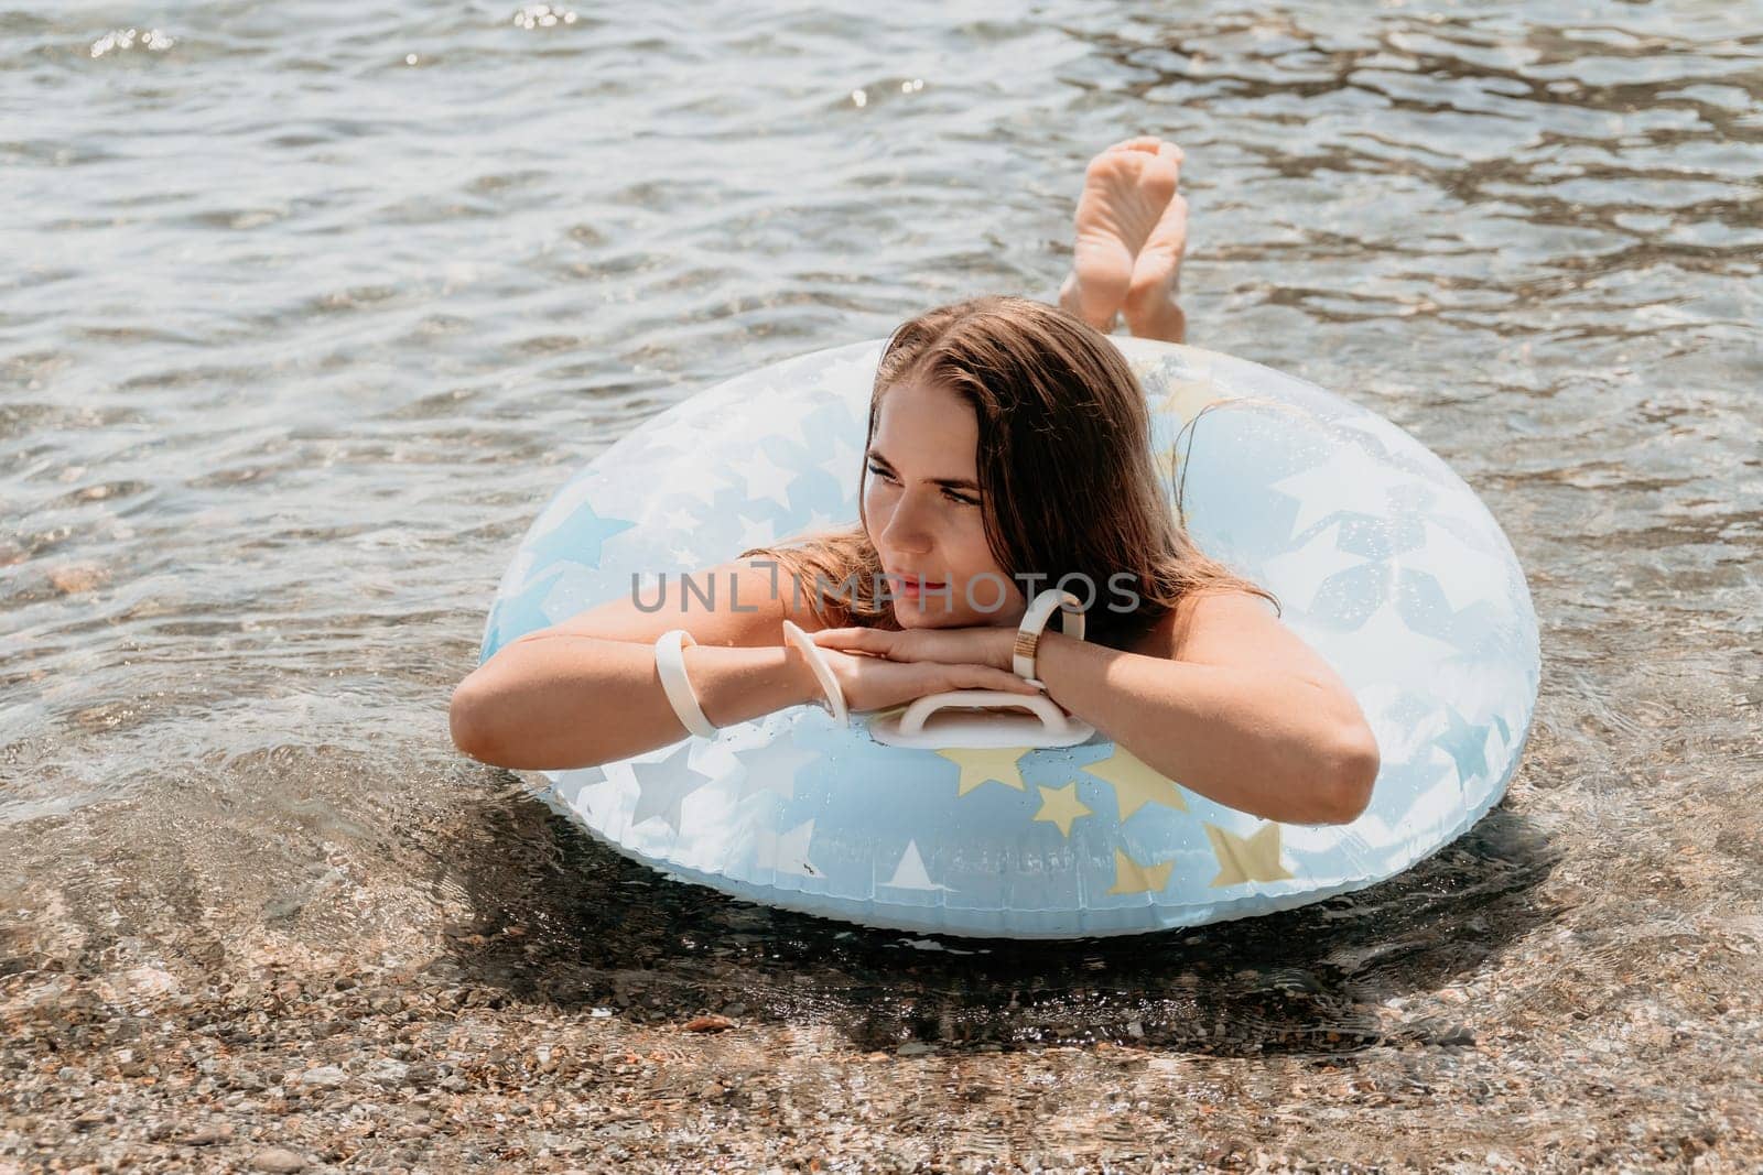
[[[677,742],[654,648],[673,627],[696,639],[682,664],[710,724],[815,701],[811,666],[781,638],[792,620],[852,710],[1044,689],[1220,803],[1285,823],[1354,819],[1379,770],[1358,703],[1268,592],[1188,541],[1149,456],[1142,391],[1100,333],[1123,312],[1137,335],[1183,340],[1179,164],[1158,139],[1091,160],[1061,308],[978,298],[894,333],[859,523],[695,573],[732,585],[716,608],[682,611],[673,583],[661,608],[621,599],[506,645],[453,694],[458,747],[561,770]],[[1030,599],[1053,585],[1084,599],[1086,639],[1049,625],[1035,684],[1012,671],[1012,652]]]

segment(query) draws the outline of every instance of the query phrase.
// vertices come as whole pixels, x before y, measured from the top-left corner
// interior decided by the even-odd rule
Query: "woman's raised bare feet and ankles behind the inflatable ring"
[[[1060,307],[1098,331],[1185,342],[1178,305],[1188,201],[1176,192],[1181,148],[1157,137],[1116,143],[1090,160],[1077,199],[1077,243]]]

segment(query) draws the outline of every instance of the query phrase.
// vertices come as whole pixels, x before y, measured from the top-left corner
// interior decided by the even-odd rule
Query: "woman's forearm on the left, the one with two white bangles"
[[[795,648],[689,645],[703,717],[732,726],[820,698]],[[453,742],[520,770],[599,766],[686,736],[656,673],[654,645],[545,634],[513,641],[453,691]]]

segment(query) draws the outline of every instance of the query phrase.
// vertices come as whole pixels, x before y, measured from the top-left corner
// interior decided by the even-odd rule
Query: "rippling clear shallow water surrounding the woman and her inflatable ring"
[[[109,1055],[56,1036],[79,994],[187,1041],[273,964],[490,992],[508,1048],[733,1006],[645,1089],[783,1073],[832,1154],[1763,1156],[1763,5],[1165,9],[0,12],[14,1076]],[[1308,911],[936,944],[665,883],[451,750],[580,462],[749,366],[1051,298],[1084,160],[1137,132],[1188,153],[1190,342],[1384,412],[1525,564],[1543,696],[1488,821]],[[1149,1080],[1107,1043],[1160,1092],[1098,1110]],[[55,1124],[120,1087],[67,1064],[12,1082],[0,1156],[100,1145]]]

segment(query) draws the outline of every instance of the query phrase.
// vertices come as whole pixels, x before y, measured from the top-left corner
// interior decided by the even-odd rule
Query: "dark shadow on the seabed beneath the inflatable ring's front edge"
[[[873,930],[735,900],[629,861],[518,782],[462,810],[441,860],[476,911],[450,930],[448,969],[517,999],[635,1022],[827,1024],[871,1050],[1114,1041],[1261,1055],[1472,1045],[1460,1024],[1389,1027],[1379,1006],[1447,987],[1550,921],[1537,886],[1558,853],[1495,809],[1359,893],[1072,942]]]

